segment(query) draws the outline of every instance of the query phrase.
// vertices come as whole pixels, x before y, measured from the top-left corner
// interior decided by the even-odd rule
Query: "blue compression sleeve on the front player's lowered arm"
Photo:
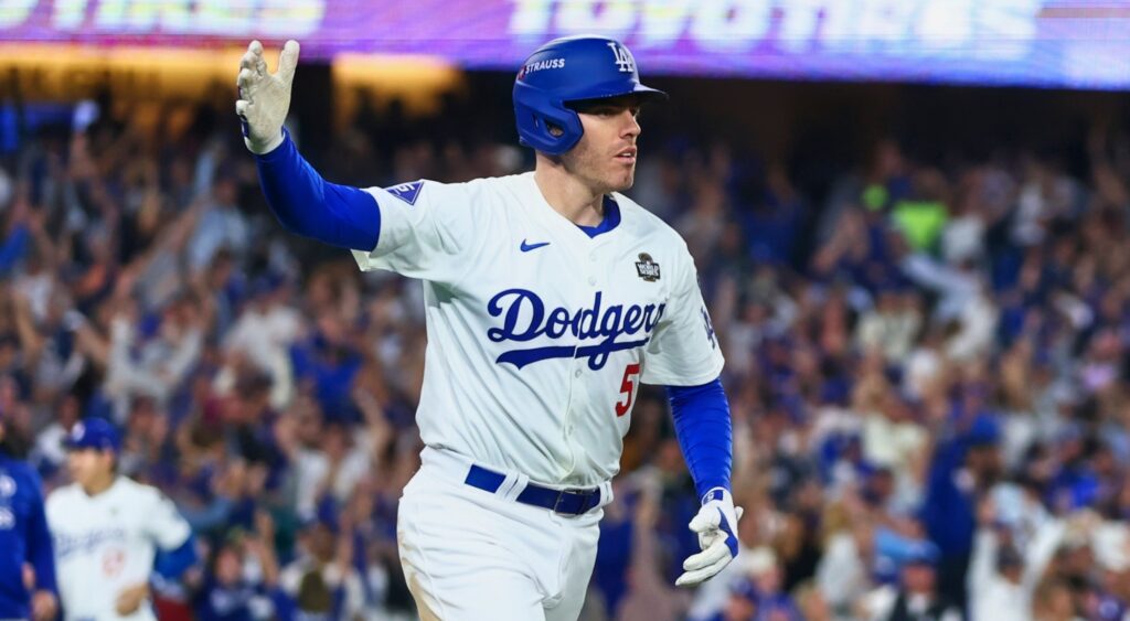
[[[730,489],[732,431],[730,402],[715,379],[702,386],[668,386],[675,437],[702,498],[714,488]]]

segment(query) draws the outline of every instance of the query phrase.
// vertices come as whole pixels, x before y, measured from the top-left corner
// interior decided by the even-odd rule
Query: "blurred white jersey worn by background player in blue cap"
[[[129,616],[114,607],[122,589],[147,583],[157,548],[175,550],[191,530],[156,488],[119,476],[90,497],[77,483],[47,497],[59,596],[68,620],[154,620],[151,606]]]

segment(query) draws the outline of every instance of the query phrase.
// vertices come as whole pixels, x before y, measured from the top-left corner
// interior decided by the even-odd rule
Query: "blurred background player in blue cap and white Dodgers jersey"
[[[67,438],[73,482],[47,497],[59,594],[68,620],[155,620],[149,577],[177,577],[195,562],[189,524],[157,489],[118,474],[118,430],[102,419],[75,423]]]

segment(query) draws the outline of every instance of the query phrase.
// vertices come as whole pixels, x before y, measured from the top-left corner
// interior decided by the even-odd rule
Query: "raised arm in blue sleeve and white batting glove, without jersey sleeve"
[[[279,222],[296,235],[334,246],[368,252],[376,246],[381,212],[371,194],[329,183],[298,155],[282,129],[290,107],[290,85],[298,63],[298,43],[288,41],[271,73],[263,46],[251,42],[240,61],[240,99],[235,112],[243,139],[255,154],[259,181]]]

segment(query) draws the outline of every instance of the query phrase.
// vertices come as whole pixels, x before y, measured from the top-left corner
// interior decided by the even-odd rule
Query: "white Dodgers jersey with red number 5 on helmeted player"
[[[550,484],[619,470],[640,382],[714,381],[722,355],[686,243],[615,194],[590,237],[532,173],[368,189],[381,234],[363,270],[424,281],[424,443]]]

